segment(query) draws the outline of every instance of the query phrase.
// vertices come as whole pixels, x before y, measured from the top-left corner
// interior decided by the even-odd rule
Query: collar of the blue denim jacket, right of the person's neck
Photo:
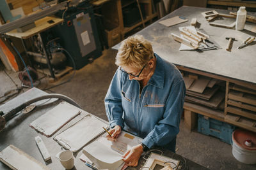
[[[160,89],[163,89],[164,87],[164,60],[161,59],[156,53],[154,53],[154,56],[156,57],[156,69],[154,71],[154,74],[148,81],[148,84],[154,85]]]

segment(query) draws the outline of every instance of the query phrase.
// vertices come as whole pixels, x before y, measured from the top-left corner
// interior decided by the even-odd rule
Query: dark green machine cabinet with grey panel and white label
[[[60,44],[74,59],[76,69],[80,69],[102,55],[99,34],[93,8],[88,1],[68,7],[56,13],[64,19],[63,24],[52,28],[54,36],[60,38]],[[72,60],[68,59],[68,66]]]

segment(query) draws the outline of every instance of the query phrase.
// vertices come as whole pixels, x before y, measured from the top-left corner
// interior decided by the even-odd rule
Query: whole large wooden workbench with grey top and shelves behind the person
[[[223,110],[212,110],[211,108],[207,108],[199,104],[185,102],[185,122],[188,124],[189,129],[195,128],[195,113],[198,113],[205,115],[206,117],[214,118],[222,122],[228,122],[236,125],[237,127],[243,127],[244,129],[256,132],[256,45],[255,43],[252,43],[252,45],[248,45],[241,50],[236,48],[241,45],[248,36],[256,36],[256,24],[246,22],[243,31],[214,27],[209,25],[209,22],[207,22],[201,14],[202,12],[209,10],[216,10],[218,13],[229,13],[228,10],[182,6],[160,20],[181,16],[187,18],[189,20],[188,22],[174,25],[172,27],[166,27],[159,24],[158,22],[160,20],[158,20],[136,34],[142,34],[146,39],[148,39],[152,43],[154,52],[163,59],[175,64],[180,71],[224,81],[225,108]],[[255,16],[256,13],[248,13],[248,15]],[[200,23],[200,29],[204,29],[204,31],[207,32],[207,34],[211,36],[211,38],[214,39],[222,49],[204,52],[179,51],[180,43],[172,38],[171,33],[180,35],[179,27],[188,26],[192,18],[197,19]],[[228,18],[228,20],[216,20],[214,22],[231,23],[234,21],[236,21],[235,18]],[[237,41],[234,41],[231,52],[225,50],[225,47],[227,46],[226,37],[234,37],[237,39]],[[113,46],[116,50],[118,50],[119,47],[120,43]],[[249,92],[253,99],[246,99],[246,97],[243,98],[241,96],[232,96],[230,90],[234,90],[232,89],[234,85],[239,85],[241,87],[238,90],[236,89],[239,93],[244,92],[243,88],[246,87],[246,89],[248,89],[246,93]],[[243,96],[243,94],[241,95]],[[232,103],[232,100],[234,99],[236,99],[238,104]],[[250,108],[249,112],[244,112],[244,104],[247,106],[248,103],[252,108]],[[237,106],[238,111],[232,110],[232,106],[234,106],[234,104]],[[230,112],[232,114],[230,114]]]

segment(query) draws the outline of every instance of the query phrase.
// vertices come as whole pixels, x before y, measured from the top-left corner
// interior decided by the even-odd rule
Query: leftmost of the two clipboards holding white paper
[[[81,110],[76,106],[67,102],[61,102],[52,110],[36,118],[29,126],[49,137],[79,113],[81,113]]]

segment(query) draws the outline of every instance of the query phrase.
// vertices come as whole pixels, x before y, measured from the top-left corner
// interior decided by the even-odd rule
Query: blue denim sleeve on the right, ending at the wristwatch
[[[182,114],[186,87],[184,80],[173,85],[165,103],[163,119],[149,132],[143,143],[152,146],[163,146],[170,143],[179,133],[180,117]]]

